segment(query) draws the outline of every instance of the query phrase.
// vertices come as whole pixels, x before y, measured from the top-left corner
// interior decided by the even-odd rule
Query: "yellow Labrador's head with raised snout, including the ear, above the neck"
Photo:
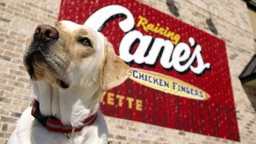
[[[46,80],[60,89],[100,86],[106,91],[129,75],[129,66],[101,33],[74,22],[39,25],[24,48],[31,80]]]

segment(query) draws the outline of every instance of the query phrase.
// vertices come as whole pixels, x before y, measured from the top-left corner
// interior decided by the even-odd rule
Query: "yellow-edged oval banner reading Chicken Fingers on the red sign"
[[[210,98],[210,95],[204,92],[202,89],[180,79],[138,68],[131,69],[132,74],[129,78],[144,86],[189,99],[206,101]]]

